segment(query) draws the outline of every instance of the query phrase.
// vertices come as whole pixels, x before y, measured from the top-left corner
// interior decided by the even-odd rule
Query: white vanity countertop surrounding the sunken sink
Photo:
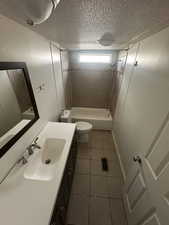
[[[63,138],[66,144],[56,169],[56,176],[49,181],[24,178],[26,165],[17,165],[0,184],[0,223],[4,225],[48,225],[67,157],[70,151],[75,124],[49,122],[39,135],[44,138]],[[25,146],[26,147],[26,146]],[[36,150],[36,153],[38,154]]]

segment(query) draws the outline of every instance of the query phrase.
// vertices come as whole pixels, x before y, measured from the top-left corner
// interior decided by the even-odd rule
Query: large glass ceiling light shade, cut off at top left
[[[46,21],[53,10],[59,4],[60,0],[28,0],[27,5],[27,23],[29,25],[41,24]]]

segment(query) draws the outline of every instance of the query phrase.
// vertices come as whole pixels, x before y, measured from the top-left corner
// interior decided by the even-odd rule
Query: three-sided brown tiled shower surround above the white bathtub
[[[66,108],[109,108],[114,116],[127,51],[121,51],[120,54],[117,51],[97,51],[112,54],[111,65],[80,64],[78,58],[81,52],[91,53],[61,51]]]

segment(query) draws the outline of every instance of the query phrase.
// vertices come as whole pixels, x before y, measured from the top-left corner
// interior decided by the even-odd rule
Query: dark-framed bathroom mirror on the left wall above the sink
[[[39,119],[23,62],[0,62],[0,158]]]

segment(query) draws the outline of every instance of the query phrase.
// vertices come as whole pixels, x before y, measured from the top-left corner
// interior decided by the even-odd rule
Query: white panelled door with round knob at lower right
[[[129,225],[169,224],[169,123],[152,150],[133,159],[123,196]]]

